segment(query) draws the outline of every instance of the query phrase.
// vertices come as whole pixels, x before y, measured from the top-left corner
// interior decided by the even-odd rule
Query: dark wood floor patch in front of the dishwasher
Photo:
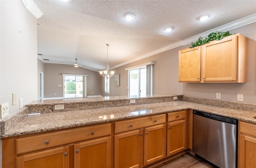
[[[214,168],[204,160],[186,153],[154,168]]]

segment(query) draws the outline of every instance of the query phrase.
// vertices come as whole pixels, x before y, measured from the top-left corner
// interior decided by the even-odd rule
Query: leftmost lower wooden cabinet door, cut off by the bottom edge
[[[68,168],[69,147],[50,149],[17,157],[17,168]]]

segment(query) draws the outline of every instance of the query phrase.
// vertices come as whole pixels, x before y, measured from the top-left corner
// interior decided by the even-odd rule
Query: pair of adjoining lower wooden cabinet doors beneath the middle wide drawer
[[[166,125],[115,135],[115,168],[140,168],[166,157]],[[143,145],[144,144],[144,145]]]

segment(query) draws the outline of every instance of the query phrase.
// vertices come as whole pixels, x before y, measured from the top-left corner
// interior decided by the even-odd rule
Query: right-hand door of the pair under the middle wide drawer
[[[166,157],[166,125],[144,129],[144,166]]]

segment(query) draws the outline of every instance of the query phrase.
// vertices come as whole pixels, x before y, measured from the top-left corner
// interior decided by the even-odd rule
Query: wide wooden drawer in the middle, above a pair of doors
[[[115,133],[121,133],[134,129],[144,128],[152,125],[158,125],[165,123],[165,114],[154,115],[150,117],[144,117],[139,119],[132,119],[128,121],[120,121],[115,123]]]

